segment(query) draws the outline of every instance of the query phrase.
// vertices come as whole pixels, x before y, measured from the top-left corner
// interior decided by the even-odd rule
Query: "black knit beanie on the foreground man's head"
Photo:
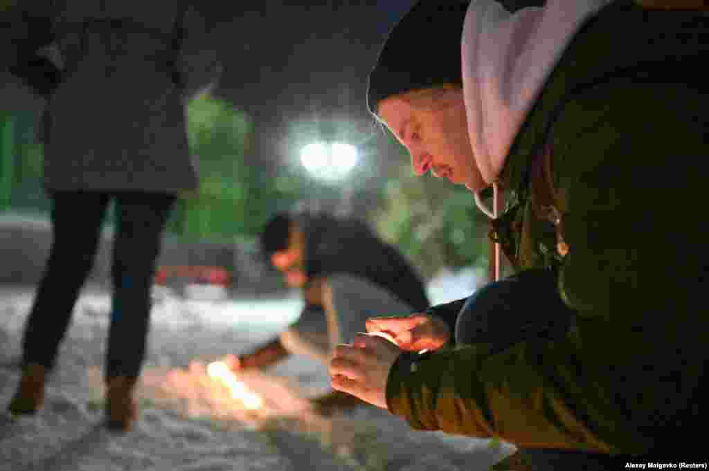
[[[389,32],[369,74],[367,106],[398,93],[462,84],[460,42],[469,1],[422,0]]]

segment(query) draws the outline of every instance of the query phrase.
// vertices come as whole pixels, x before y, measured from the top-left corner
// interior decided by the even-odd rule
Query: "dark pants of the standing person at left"
[[[150,324],[150,290],[165,222],[175,197],[166,193],[54,192],[53,242],[45,273],[25,325],[23,363],[48,369],[99,248],[110,200],[116,204],[106,378],[138,377]]]

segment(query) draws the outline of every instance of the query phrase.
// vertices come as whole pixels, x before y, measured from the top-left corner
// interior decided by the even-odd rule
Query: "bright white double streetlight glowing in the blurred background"
[[[313,142],[301,150],[309,174],[325,181],[342,180],[357,165],[357,147],[344,142]]]

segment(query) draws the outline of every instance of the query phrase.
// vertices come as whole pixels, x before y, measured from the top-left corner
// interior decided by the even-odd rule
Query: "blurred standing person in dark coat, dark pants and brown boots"
[[[181,1],[26,1],[6,14],[15,52],[10,70],[48,99],[40,133],[53,232],[9,412],[32,414],[43,404],[113,201],[105,412],[109,429],[127,431],[137,414],[133,389],[162,233],[176,198],[198,186],[184,104],[216,79],[216,52],[202,42],[206,19]],[[48,46],[50,62],[38,54]]]

